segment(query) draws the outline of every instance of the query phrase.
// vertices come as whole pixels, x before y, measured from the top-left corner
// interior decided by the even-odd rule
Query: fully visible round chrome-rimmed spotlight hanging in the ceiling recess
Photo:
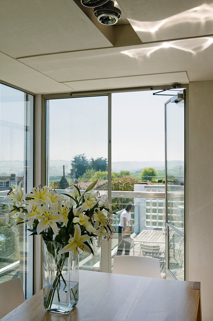
[[[94,8],[94,15],[98,18],[98,21],[105,25],[112,25],[118,22],[121,17],[121,11],[114,7],[113,1]]]

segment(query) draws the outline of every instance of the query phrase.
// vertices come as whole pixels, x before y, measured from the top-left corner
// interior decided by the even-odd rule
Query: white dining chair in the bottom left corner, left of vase
[[[20,278],[0,283],[0,319],[24,302]]]

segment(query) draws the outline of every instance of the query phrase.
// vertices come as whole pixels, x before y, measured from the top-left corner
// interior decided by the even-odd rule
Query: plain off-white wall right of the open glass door
[[[189,280],[213,320],[213,81],[189,84]]]

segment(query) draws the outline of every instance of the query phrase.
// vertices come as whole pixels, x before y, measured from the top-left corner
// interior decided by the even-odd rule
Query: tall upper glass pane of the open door
[[[168,223],[184,230],[184,101],[166,105]]]

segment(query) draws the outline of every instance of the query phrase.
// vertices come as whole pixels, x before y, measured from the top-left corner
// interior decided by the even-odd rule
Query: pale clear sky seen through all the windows
[[[24,93],[4,85],[1,89],[0,159],[23,160]],[[169,98],[154,96],[153,91],[112,94],[112,162],[164,161],[164,103]],[[182,160],[183,136],[177,135],[181,112],[169,115],[168,155],[170,160]],[[49,100],[49,116],[51,160],[70,161],[82,153],[88,159],[108,157],[108,96]]]

